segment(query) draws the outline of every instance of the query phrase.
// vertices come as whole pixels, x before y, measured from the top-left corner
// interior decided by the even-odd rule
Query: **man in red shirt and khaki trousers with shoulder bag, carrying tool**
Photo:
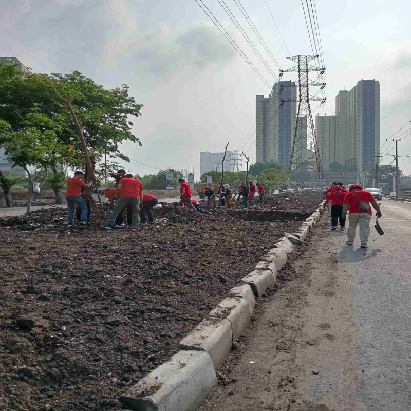
[[[368,191],[364,191],[361,185],[351,185],[348,194],[344,197],[343,215],[349,210],[347,244],[353,245],[356,238],[356,229],[360,225],[361,247],[368,246],[369,223],[371,221],[371,203],[381,217],[380,206],[375,198]]]

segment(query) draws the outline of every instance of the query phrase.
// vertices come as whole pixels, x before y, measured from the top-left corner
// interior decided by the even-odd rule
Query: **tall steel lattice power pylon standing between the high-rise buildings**
[[[315,67],[308,62],[314,60],[318,55],[294,55],[287,57],[297,63],[296,66],[287,70],[281,70],[279,76],[282,77],[283,73],[298,73],[298,82],[291,87],[298,86],[298,97],[292,97],[288,100],[281,100],[281,105],[286,102],[298,102],[297,121],[295,125],[294,141],[292,144],[291,158],[288,169],[288,174],[292,177],[292,173],[298,169],[306,171],[317,172],[322,189],[324,188],[324,176],[323,167],[321,165],[320,151],[315,135],[314,122],[312,120],[310,101],[321,101],[325,103],[325,98],[311,96],[309,94],[310,87],[319,86],[321,89],[325,87],[325,83],[309,80],[309,71],[320,71],[320,76],[324,74],[324,67]],[[287,86],[286,86],[287,87]],[[295,180],[300,181],[306,185],[317,186],[312,179],[303,181],[299,178],[293,177]]]

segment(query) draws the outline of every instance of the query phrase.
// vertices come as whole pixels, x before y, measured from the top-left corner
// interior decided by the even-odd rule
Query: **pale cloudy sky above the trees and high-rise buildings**
[[[203,1],[273,84],[218,0]],[[264,0],[241,3],[281,67],[291,67]],[[267,3],[290,53],[310,54],[301,1]],[[226,4],[277,73],[235,1]],[[316,8],[327,68],[328,100],[321,111],[335,110],[340,89],[361,79],[379,80],[382,145],[411,120],[411,3],[316,0]],[[238,148],[255,119],[255,95],[270,91],[194,0],[0,0],[0,52],[16,56],[34,72],[79,70],[107,88],[127,84],[144,104],[143,116],[134,121],[143,147],[125,143],[123,152],[153,167],[193,166],[196,179],[200,151],[219,152],[227,142],[229,149]],[[283,79],[296,77],[285,74]],[[399,134],[408,128],[411,123]],[[400,155],[411,155],[411,135],[406,134]],[[383,151],[393,146],[385,144]],[[254,161],[254,137],[242,148]],[[386,155],[383,163],[392,159]],[[124,165],[133,173],[156,172],[133,161]],[[411,174],[411,157],[400,158],[399,165]]]

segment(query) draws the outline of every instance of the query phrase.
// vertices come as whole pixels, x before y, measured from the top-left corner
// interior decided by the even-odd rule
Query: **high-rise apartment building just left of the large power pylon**
[[[268,97],[255,96],[257,163],[276,161],[288,169],[297,119],[296,96],[297,87],[291,81],[275,83]]]

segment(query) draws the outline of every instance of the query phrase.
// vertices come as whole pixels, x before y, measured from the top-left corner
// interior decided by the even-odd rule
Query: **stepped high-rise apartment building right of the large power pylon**
[[[380,146],[380,82],[361,80],[335,97],[335,113],[315,117],[324,170],[370,171]]]

